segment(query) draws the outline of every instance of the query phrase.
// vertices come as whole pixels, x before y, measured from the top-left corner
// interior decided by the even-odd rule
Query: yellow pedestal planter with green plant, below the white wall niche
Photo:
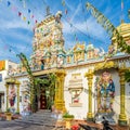
[[[70,129],[72,120],[74,119],[74,115],[70,115],[68,112],[63,115],[63,119],[66,122],[66,129]]]

